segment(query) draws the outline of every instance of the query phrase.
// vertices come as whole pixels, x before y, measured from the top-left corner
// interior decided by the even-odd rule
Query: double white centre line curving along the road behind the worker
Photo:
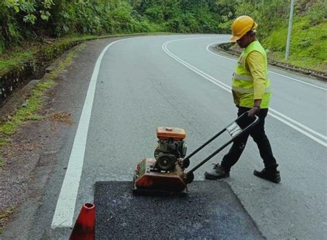
[[[182,40],[186,40],[186,39],[179,39],[180,41]],[[178,40],[172,40],[172,41],[178,41]],[[172,41],[166,41],[161,48],[164,50],[164,52],[166,52],[170,57],[172,57],[173,59],[175,59],[176,61],[179,61],[179,63],[183,64],[184,66],[186,66],[187,68],[189,68],[190,70],[192,70],[193,72],[196,72],[197,74],[199,74],[201,77],[204,77],[205,79],[207,79],[208,81],[214,83],[215,85],[219,86],[220,88],[223,88],[224,90],[231,92],[231,88],[230,86],[227,86],[225,83],[222,83],[221,81],[219,81],[218,79],[215,79],[214,77],[210,76],[209,74],[206,74],[205,72],[202,72],[201,70],[195,68],[194,66],[192,66],[190,63],[187,63],[186,61],[180,59],[179,57],[177,57],[175,54],[172,54],[172,52],[170,52],[167,48],[168,43],[172,42]],[[214,54],[214,53],[212,53]],[[323,139],[327,139],[326,136],[324,136],[323,134],[320,134],[319,132],[316,132],[315,130],[312,130],[311,128],[308,128],[307,126],[304,126],[303,124],[295,121],[294,119],[291,119],[290,117],[287,117],[284,114],[281,114],[280,112],[277,112],[276,110],[270,108],[270,110],[273,110],[273,112],[275,112],[275,114],[279,114],[281,117],[286,117],[286,119],[288,119],[289,121],[293,121],[293,123],[296,123],[298,126],[301,126],[302,128],[305,128],[306,130],[308,130],[309,132],[312,132],[313,134],[317,134],[319,137],[322,137]],[[292,123],[281,119],[281,117],[277,117],[275,114],[272,114],[270,112],[268,112],[268,114],[270,114],[270,116],[274,117],[275,119],[286,123],[286,125],[290,126],[291,128],[301,132],[302,134],[306,135],[307,137],[309,137],[310,139],[313,139],[314,141],[316,141],[317,143],[320,143],[322,146],[327,147],[327,143],[324,141],[321,141],[320,139],[318,139],[317,137],[313,136],[312,134],[305,132],[304,130],[301,130],[301,128],[298,128],[297,126],[293,125]]]

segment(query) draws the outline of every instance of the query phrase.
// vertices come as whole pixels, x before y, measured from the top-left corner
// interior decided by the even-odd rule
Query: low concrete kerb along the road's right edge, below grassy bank
[[[233,45],[233,43],[231,43],[231,42],[219,43],[219,44],[217,44],[217,46],[215,46],[215,48],[217,48],[217,50],[220,50],[222,52],[227,52],[228,54],[239,56],[239,54],[241,54],[241,51],[230,49],[230,47],[232,45]],[[325,72],[318,72],[318,71],[315,71],[315,70],[301,68],[301,67],[293,66],[293,65],[288,64],[288,63],[281,63],[279,61],[275,61],[275,60],[272,60],[272,59],[268,59],[268,63],[270,65],[272,65],[272,66],[276,66],[276,67],[283,68],[283,69],[286,69],[286,70],[290,70],[290,71],[293,71],[293,72],[298,72],[298,73],[301,73],[301,74],[310,75],[310,76],[315,77],[315,78],[317,78],[319,80],[327,81],[327,73],[325,73]]]

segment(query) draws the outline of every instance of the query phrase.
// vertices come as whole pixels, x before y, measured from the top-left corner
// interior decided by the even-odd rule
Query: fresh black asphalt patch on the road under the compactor
[[[129,181],[99,181],[94,202],[96,239],[264,239],[224,181],[161,197],[133,195]]]

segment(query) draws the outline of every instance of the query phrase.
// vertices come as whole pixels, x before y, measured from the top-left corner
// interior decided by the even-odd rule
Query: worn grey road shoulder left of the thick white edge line
[[[64,157],[61,152],[68,148],[75,136],[95,61],[101,50],[115,40],[117,38],[85,43],[85,48],[76,52],[70,66],[59,73],[55,86],[46,92],[43,108],[38,112],[45,118],[24,122],[17,133],[10,137],[11,143],[0,148],[4,159],[4,166],[0,170],[0,210],[17,208],[1,237],[30,238],[33,236],[33,233],[30,235],[30,230],[36,234],[36,238],[43,234],[40,229],[45,228],[37,229],[34,219],[37,219],[38,214],[48,215],[49,221],[52,218],[51,209],[48,209],[49,212],[39,212],[40,209],[44,210],[41,204],[46,201],[45,198],[52,197],[56,199],[52,203],[55,208],[58,192],[48,189],[48,186],[56,178],[54,175],[57,174],[58,163],[61,166],[60,174],[66,171],[68,157]],[[54,65],[62,61],[68,52],[57,59]],[[43,79],[46,77],[47,74]],[[60,177],[56,181],[59,190],[62,183]],[[17,233],[19,226],[23,226],[20,229],[24,231]]]

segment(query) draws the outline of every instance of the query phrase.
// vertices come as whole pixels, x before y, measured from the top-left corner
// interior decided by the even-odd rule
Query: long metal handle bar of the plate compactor
[[[248,112],[244,112],[243,114],[241,114],[241,116],[239,116],[235,121],[232,121],[230,124],[228,124],[228,126],[226,126],[226,128],[224,128],[223,130],[221,130],[220,132],[218,132],[217,134],[215,134],[214,137],[212,137],[211,139],[209,139],[208,141],[206,141],[206,143],[204,143],[202,146],[200,146],[199,148],[197,148],[197,150],[195,150],[194,152],[192,152],[185,159],[190,159],[190,157],[194,156],[197,152],[199,152],[199,150],[201,150],[202,148],[204,148],[205,146],[207,146],[211,141],[213,141],[219,135],[221,135],[223,132],[225,132],[229,126],[232,126],[235,123],[237,124],[237,120],[239,120],[242,117],[244,117],[245,114],[248,114]],[[232,143],[232,141],[234,141],[237,137],[241,136],[241,134],[244,134],[245,132],[248,132],[248,130],[250,130],[250,128],[252,128],[253,126],[255,126],[258,123],[258,121],[259,121],[259,117],[257,117],[255,115],[255,121],[252,121],[252,123],[250,123],[248,126],[246,126],[246,128],[241,129],[241,131],[238,131],[237,134],[235,134],[234,136],[232,136],[232,134],[231,134],[232,139],[230,139],[227,143],[225,143],[223,146],[221,146],[218,150],[216,150],[215,152],[213,152],[212,154],[210,154],[209,157],[207,157],[206,159],[204,159],[203,161],[201,161],[201,163],[199,163],[197,166],[195,166],[190,171],[188,171],[187,174],[191,174],[192,172],[194,172],[195,170],[197,170],[199,167],[201,167],[202,165],[204,165],[204,163],[206,163],[209,159],[211,159],[216,154],[218,154],[221,150],[223,150],[224,148],[226,148],[226,146],[228,146],[230,143]],[[184,159],[184,161],[185,161],[185,159]]]

